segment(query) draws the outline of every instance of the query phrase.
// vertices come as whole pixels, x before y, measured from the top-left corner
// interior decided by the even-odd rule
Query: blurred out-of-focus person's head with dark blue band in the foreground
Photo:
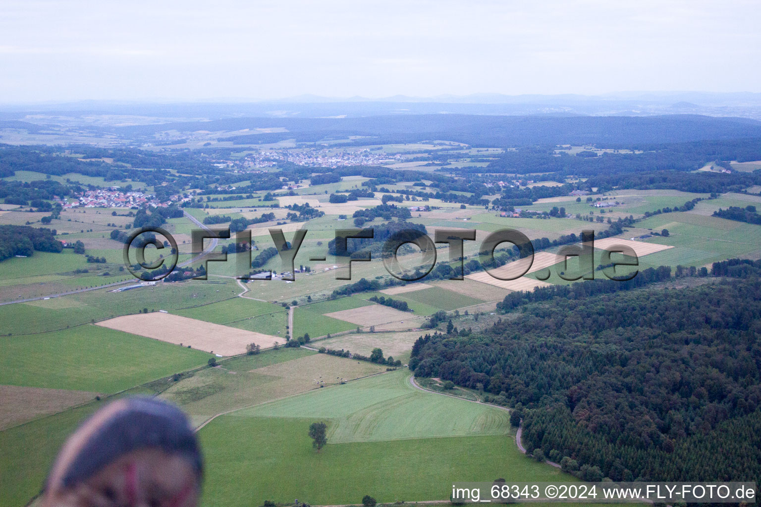
[[[185,415],[155,398],[123,398],[68,438],[43,507],[194,507],[202,458]]]

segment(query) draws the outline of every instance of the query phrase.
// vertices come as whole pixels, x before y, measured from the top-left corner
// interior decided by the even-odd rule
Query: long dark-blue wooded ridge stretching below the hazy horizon
[[[669,116],[483,116],[405,115],[363,118],[229,118],[211,122],[173,122],[114,128],[128,138],[151,137],[168,130],[236,132],[246,128],[285,128],[288,132],[221,135],[234,144],[298,142],[363,136],[357,144],[459,141],[476,147],[529,144],[621,146],[761,137],[761,122],[697,115]]]

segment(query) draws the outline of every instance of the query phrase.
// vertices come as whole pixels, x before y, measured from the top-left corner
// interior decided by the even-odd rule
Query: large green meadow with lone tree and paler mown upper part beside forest
[[[517,451],[506,411],[417,391],[408,379],[391,372],[218,417],[199,433],[203,505],[445,500],[451,480],[570,477]],[[317,420],[329,428],[320,453],[307,436]]]

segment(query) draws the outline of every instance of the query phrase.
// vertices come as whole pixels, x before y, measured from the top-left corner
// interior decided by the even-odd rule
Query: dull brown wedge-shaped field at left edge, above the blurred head
[[[87,403],[97,393],[0,385],[0,430]]]

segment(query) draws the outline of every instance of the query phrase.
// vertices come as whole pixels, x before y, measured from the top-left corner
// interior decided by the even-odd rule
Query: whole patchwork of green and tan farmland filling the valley
[[[293,150],[289,154],[313,149],[292,139],[262,147],[232,147],[231,141],[219,145],[216,139],[212,141],[215,143],[209,147],[204,147],[209,142],[205,138],[187,143],[193,149],[209,148],[209,152],[212,146],[232,150],[231,167],[242,160],[250,162],[247,157],[259,156],[260,148],[277,151],[287,144],[287,149]],[[326,142],[339,141],[360,142],[349,138]],[[185,141],[178,146],[183,144]],[[343,148],[325,149],[342,153]],[[241,499],[251,505],[263,505],[265,500],[291,505],[296,498],[312,505],[357,504],[365,494],[380,502],[446,502],[448,491],[443,485],[454,479],[577,480],[522,455],[510,424],[511,412],[505,410],[518,407],[515,400],[526,392],[536,392],[537,396],[521,407],[541,407],[547,399],[543,389],[551,382],[542,388],[529,388],[529,382],[514,373],[498,378],[495,382],[502,382],[502,386],[492,392],[485,387],[486,377],[481,376],[492,375],[491,365],[478,366],[479,376],[471,382],[464,374],[458,379],[458,373],[478,361],[463,361],[447,365],[451,369],[447,375],[459,382],[458,386],[449,389],[444,375],[438,373],[430,373],[431,379],[421,384],[470,401],[421,391],[410,384],[408,368],[414,369],[419,363],[412,354],[416,341],[423,337],[424,341],[446,343],[451,346],[446,353],[475,347],[504,322],[520,320],[521,310],[505,312],[498,308],[506,296],[520,298],[525,296],[521,292],[541,287],[584,283],[565,280],[562,276],[566,274],[605,278],[603,269],[609,262],[604,260],[604,250],[619,245],[634,250],[639,271],[667,266],[674,273],[681,265],[688,272],[690,268],[706,268],[707,272],[715,261],[761,258],[761,226],[712,216],[719,208],[761,205],[761,198],[744,193],[740,187],[732,188],[738,192],[716,195],[674,189],[597,192],[584,187],[576,189],[581,194],[568,195],[570,187],[563,185],[568,181],[581,185],[586,177],[549,181],[555,177],[550,176],[552,173],[509,178],[507,173],[473,173],[474,168],[492,163],[492,168],[497,166],[502,154],[511,153],[505,152],[507,147],[431,141],[368,144],[358,149],[371,154],[402,154],[398,160],[403,161],[394,158],[387,166],[372,168],[384,173],[389,166],[396,166],[384,173],[389,182],[336,170],[335,176],[331,173],[333,181],[315,183],[324,169],[315,167],[298,173],[298,182],[285,182],[279,178],[286,176],[281,175],[295,173],[263,167],[252,173],[224,170],[228,179],[220,179],[214,188],[205,188],[202,193],[183,189],[187,197],[182,198],[192,199],[185,202],[193,205],[178,208],[179,213],[162,223],[177,239],[181,263],[199,253],[192,252],[191,234],[198,226],[191,217],[221,229],[236,220],[237,227],[251,233],[253,242],[237,251],[234,238],[220,239],[213,250],[226,253],[227,261],[209,261],[200,271],[201,262],[196,258],[183,266],[183,280],[177,281],[142,284],[124,266],[119,233],[137,227],[135,214],[139,210],[65,208],[50,224],[43,223],[49,211],[3,203],[0,226],[52,227],[57,240],[67,242],[67,247],[81,242],[86,254],[66,248],[60,253],[14,255],[0,262],[0,505],[30,502],[65,436],[98,407],[125,395],[157,396],[189,415],[198,429],[208,465],[202,505],[240,505]],[[215,157],[228,157],[223,151]],[[581,151],[581,147],[574,147],[569,153]],[[490,161],[476,160],[481,157]],[[435,165],[426,166],[429,162]],[[745,173],[752,164],[731,166]],[[416,167],[421,172],[401,172]],[[127,171],[126,166],[121,170]],[[168,176],[173,182],[181,178],[198,182],[193,171],[169,173],[174,175]],[[275,188],[247,189],[231,198],[237,195],[229,193],[232,187],[258,185],[271,173],[278,175],[271,182]],[[710,176],[703,173],[710,171],[695,174]],[[441,182],[463,182],[469,177],[463,174],[477,174],[473,185],[482,185],[481,180],[489,182],[490,186],[482,188],[488,205],[480,203],[481,196],[475,192],[443,190]],[[31,171],[17,171],[3,181],[31,184],[44,182],[46,176],[61,184],[67,178],[83,185],[105,183],[102,176]],[[513,177],[518,181],[498,184],[498,180]],[[492,182],[495,178],[497,181]],[[532,182],[523,184],[521,179]],[[132,177],[113,182],[119,188],[132,184],[135,189],[155,193],[161,183],[152,183]],[[743,188],[752,193],[759,185]],[[561,189],[565,194],[535,198]],[[349,200],[351,192],[365,197]],[[530,194],[530,199],[510,201],[532,204],[507,204],[505,195],[510,192],[536,193]],[[346,201],[332,199],[333,195],[345,196]],[[503,201],[503,197],[508,200]],[[695,201],[692,208],[681,208],[696,199],[702,200]],[[667,208],[669,211],[664,211]],[[673,211],[677,208],[683,211]],[[409,210],[409,214],[400,209]],[[501,216],[502,211],[509,216]],[[265,213],[267,217],[263,217]],[[619,219],[625,225],[613,234]],[[352,280],[336,278],[342,271],[338,268],[347,261],[331,253],[336,230],[393,229],[404,221],[425,227],[431,238],[439,230],[476,230],[476,240],[466,240],[463,245],[463,280],[451,280],[449,272],[437,270],[449,262],[444,244],[437,244],[438,261],[431,274],[419,280],[403,282],[392,277],[375,251],[370,262],[352,262]],[[525,271],[515,280],[500,280],[484,271],[489,257],[481,251],[482,241],[489,233],[506,227],[521,231],[536,245],[528,270],[527,261],[516,260],[510,244],[496,249],[498,266],[490,271],[499,277],[514,277]],[[287,241],[297,230],[308,231],[294,260],[295,272],[286,273],[291,267],[272,251],[272,246],[282,246],[272,242],[270,229],[281,229]],[[578,258],[566,262],[559,256],[562,246],[579,245],[581,230],[594,230],[597,237],[611,234],[595,240],[591,265],[581,266]],[[568,239],[572,234],[576,241]],[[358,245],[352,241],[350,248]],[[212,251],[209,240],[205,247],[207,253]],[[408,274],[423,273],[428,268],[422,265],[418,249],[400,252],[400,263]],[[146,255],[158,258],[153,249]],[[632,260],[616,253],[611,259]],[[616,274],[626,274],[629,269],[634,268],[618,266]],[[263,271],[272,271],[272,280],[246,279]],[[206,280],[192,279],[202,272]],[[295,280],[286,280],[288,274]],[[709,278],[696,275],[670,280],[656,290],[724,281]],[[129,290],[116,292],[126,287]],[[380,297],[384,297],[384,304],[379,303]],[[409,311],[400,310],[405,303]],[[250,344],[263,350],[247,354]],[[366,360],[374,353],[377,356],[378,349],[380,360]],[[603,349],[610,350],[600,347]],[[336,350],[356,356],[327,353]],[[595,348],[590,353],[597,351]],[[491,360],[492,355],[485,353],[479,360],[486,356]],[[521,361],[510,357],[512,363]],[[619,359],[616,356],[613,364],[619,364]],[[447,362],[431,360],[426,364],[441,368]],[[610,363],[610,357],[600,362]],[[497,369],[502,366],[499,363]],[[539,369],[534,373],[547,374]],[[552,399],[565,404],[568,397]],[[473,403],[484,400],[501,406]],[[593,412],[587,416],[594,417]],[[307,436],[310,423],[317,421],[327,424],[328,438],[319,453]],[[569,419],[568,425],[577,422]],[[664,425],[653,431],[660,431]],[[669,434],[668,438],[679,437]]]

